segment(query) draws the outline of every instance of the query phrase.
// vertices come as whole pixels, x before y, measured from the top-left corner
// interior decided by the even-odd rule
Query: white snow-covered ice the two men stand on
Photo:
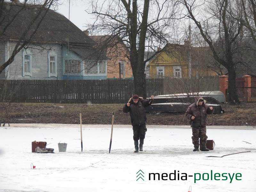
[[[22,125],[0,128],[0,191],[123,192],[255,192],[256,128],[214,127],[207,129],[208,139],[216,147],[210,152],[192,152],[188,126],[148,126],[143,152],[133,153],[132,127],[114,125],[110,154],[110,125],[83,125],[81,152],[79,125]],[[31,153],[32,141],[46,141],[54,154]],[[252,144],[248,144],[246,142]],[[58,151],[58,142],[68,143],[67,152]],[[226,154],[251,151],[222,158]],[[31,169],[30,164],[36,165]],[[139,170],[144,172],[138,179]],[[176,170],[176,180],[169,174]],[[220,180],[207,179],[214,174]],[[178,175],[178,171],[179,174]],[[137,174],[136,174],[137,173]],[[149,180],[159,173],[160,180]],[[163,174],[167,173],[167,174]],[[183,174],[182,174],[183,173]],[[181,176],[192,175],[187,180]],[[199,174],[201,180],[199,179]],[[230,183],[222,173],[233,173]],[[163,177],[168,175],[168,177]],[[179,180],[178,180],[179,176]],[[173,174],[171,175],[173,179]],[[185,179],[185,177],[183,177]],[[216,177],[218,179],[218,177]],[[137,180],[137,181],[136,181]]]

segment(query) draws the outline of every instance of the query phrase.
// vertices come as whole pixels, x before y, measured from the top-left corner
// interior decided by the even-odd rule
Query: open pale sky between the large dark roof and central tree
[[[70,15],[69,20],[74,23],[81,30],[85,30],[86,23],[92,23],[92,15],[89,15],[85,12],[88,5],[81,0],[70,0]],[[59,5],[57,12],[63,14],[68,18],[68,0],[63,0],[63,4]]]

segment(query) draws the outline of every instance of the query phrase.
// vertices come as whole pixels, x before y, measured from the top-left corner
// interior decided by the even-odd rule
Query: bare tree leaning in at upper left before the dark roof
[[[30,44],[35,44],[36,34],[45,15],[50,8],[54,8],[59,0],[36,0],[20,3],[18,0],[12,2],[5,2],[0,0],[0,44],[7,41],[8,38],[13,38],[16,41],[16,46],[13,48],[12,53],[7,61],[0,66],[0,74],[9,66],[15,55],[23,48],[28,47]],[[17,31],[18,35],[13,35],[13,27],[24,19],[26,13],[29,17],[26,18],[24,26]],[[34,42],[34,43],[33,43]],[[42,42],[43,43],[43,42]]]

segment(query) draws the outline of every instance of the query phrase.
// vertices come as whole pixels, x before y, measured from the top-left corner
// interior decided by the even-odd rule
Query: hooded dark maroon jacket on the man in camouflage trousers
[[[205,100],[203,104],[200,106],[198,102],[200,99],[203,99],[201,96],[195,97],[195,103],[190,105],[186,111],[186,118],[190,120],[191,127],[199,127],[199,126],[206,126],[206,118],[207,114],[212,114],[214,112],[214,108],[211,110],[210,106],[205,104]],[[191,119],[194,116],[195,119]]]

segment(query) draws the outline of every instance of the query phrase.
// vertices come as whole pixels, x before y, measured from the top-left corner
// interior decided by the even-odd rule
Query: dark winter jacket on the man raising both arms
[[[143,125],[146,124],[146,111],[145,108],[148,107],[153,103],[152,99],[142,99],[139,97],[138,103],[134,103],[132,98],[128,101],[130,106],[128,107],[126,104],[123,107],[123,112],[128,113],[130,112],[131,116],[131,123],[132,125]]]

